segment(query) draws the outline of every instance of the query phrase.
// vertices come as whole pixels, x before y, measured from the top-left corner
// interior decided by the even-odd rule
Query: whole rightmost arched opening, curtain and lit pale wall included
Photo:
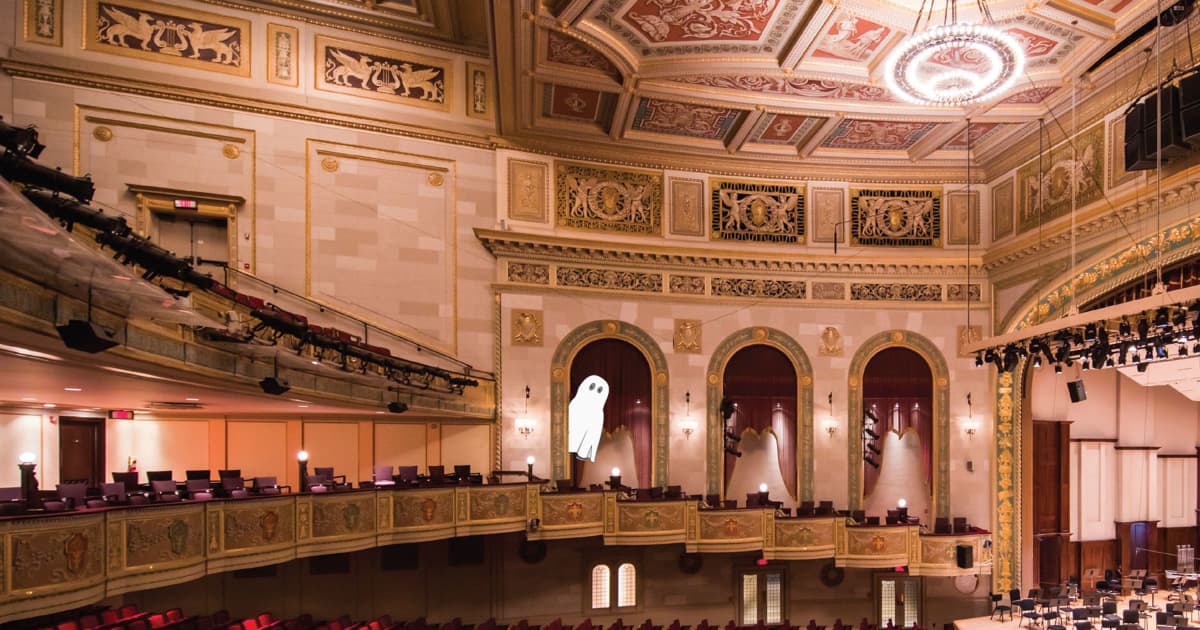
[[[884,348],[863,370],[863,496],[868,514],[900,499],[929,521],[934,488],[934,373],[916,352]]]

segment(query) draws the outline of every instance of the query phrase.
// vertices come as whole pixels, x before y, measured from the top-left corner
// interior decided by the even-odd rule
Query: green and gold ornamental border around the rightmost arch
[[[937,517],[950,516],[950,379],[946,358],[928,338],[908,330],[886,330],[866,340],[850,361],[848,418],[846,419],[846,451],[850,462],[850,509],[863,508],[863,372],[868,361],[887,348],[908,348],[916,352],[934,372],[934,509]]]

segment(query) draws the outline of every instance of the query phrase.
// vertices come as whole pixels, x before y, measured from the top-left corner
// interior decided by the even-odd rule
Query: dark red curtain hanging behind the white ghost
[[[604,406],[604,430],[612,433],[625,427],[634,438],[634,464],[638,487],[650,486],[653,443],[650,421],[650,365],[641,350],[622,340],[598,340],[588,343],[571,361],[571,398],[580,383],[596,374],[608,382],[608,400]],[[582,479],[583,466],[575,460],[575,479]],[[629,481],[625,481],[629,485]]]

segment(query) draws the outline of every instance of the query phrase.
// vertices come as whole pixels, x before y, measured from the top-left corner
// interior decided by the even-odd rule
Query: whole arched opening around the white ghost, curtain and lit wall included
[[[638,487],[649,487],[653,461],[650,366],[631,343],[602,338],[581,348],[571,360],[571,400],[580,395],[583,380],[593,374],[608,383],[604,434],[595,462],[575,458],[571,476],[581,486],[601,484],[612,468],[619,468],[622,476],[636,479]]]

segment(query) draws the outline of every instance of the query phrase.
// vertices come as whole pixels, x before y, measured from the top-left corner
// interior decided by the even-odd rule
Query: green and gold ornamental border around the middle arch
[[[720,409],[725,389],[725,365],[742,348],[757,344],[770,346],[782,352],[796,368],[796,409],[799,422],[797,491],[800,494],[799,500],[812,500],[812,364],[796,340],[781,330],[766,326],[742,329],[725,337],[708,360],[707,493],[722,497],[725,494],[725,467],[721,461],[721,455],[725,452],[725,428]]]

